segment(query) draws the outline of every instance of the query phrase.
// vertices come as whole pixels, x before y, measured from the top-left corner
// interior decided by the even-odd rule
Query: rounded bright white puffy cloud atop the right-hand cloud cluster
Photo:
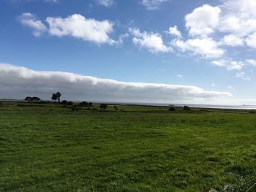
[[[214,32],[214,28],[219,25],[219,7],[212,7],[205,4],[202,7],[197,7],[192,13],[186,15],[186,27],[189,29],[189,34],[192,36],[208,36]]]

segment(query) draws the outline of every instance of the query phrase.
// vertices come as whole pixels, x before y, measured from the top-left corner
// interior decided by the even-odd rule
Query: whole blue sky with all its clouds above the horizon
[[[0,0],[0,98],[256,104],[255,0]]]

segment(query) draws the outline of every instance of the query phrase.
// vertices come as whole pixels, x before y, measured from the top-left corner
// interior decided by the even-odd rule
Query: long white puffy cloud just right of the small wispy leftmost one
[[[67,18],[46,18],[49,34],[62,37],[70,35],[97,44],[115,44],[109,34],[113,31],[113,23],[108,20],[87,19],[83,15],[74,14]]]

